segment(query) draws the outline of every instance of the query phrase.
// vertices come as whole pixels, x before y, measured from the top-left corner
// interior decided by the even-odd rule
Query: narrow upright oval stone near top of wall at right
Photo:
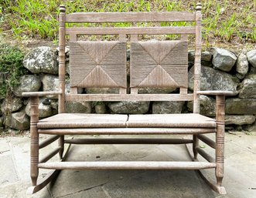
[[[249,63],[246,56],[246,50],[243,50],[240,55],[238,55],[237,58],[237,65],[236,65],[236,71],[237,71],[237,77],[239,79],[244,79],[244,76],[247,74],[249,70]]]

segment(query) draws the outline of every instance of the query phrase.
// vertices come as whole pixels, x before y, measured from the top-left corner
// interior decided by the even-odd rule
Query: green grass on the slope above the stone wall
[[[193,12],[197,1],[169,0],[2,0],[0,33],[15,39],[57,39],[58,6],[71,12]],[[203,39],[205,42],[256,42],[256,0],[201,0],[203,5]],[[118,23],[124,27],[130,23]],[[161,25],[168,25],[162,23]],[[178,25],[184,25],[179,23]]]

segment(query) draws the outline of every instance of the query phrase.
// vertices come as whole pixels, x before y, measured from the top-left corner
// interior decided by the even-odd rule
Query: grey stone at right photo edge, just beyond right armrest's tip
[[[256,99],[256,74],[251,74],[247,76],[241,83],[239,98]]]

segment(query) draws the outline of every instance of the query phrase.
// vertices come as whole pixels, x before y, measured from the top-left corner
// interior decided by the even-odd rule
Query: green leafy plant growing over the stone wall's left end
[[[22,65],[24,54],[13,45],[0,45],[0,98],[19,85],[19,77],[26,74]]]

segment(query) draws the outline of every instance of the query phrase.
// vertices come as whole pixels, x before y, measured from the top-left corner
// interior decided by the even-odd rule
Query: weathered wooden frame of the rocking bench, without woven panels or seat
[[[31,180],[32,186],[29,187],[28,193],[36,193],[41,190],[47,183],[53,180],[59,173],[60,169],[196,169],[200,176],[210,185],[210,187],[220,194],[225,194],[226,190],[222,186],[224,177],[224,132],[225,132],[225,95],[233,95],[228,91],[200,91],[200,66],[201,66],[201,5],[196,5],[196,12],[125,12],[125,13],[73,13],[65,14],[65,7],[60,5],[60,42],[59,42],[59,82],[60,91],[58,92],[24,92],[23,96],[30,97],[31,101]],[[195,26],[186,27],[132,27],[132,28],[67,28],[66,23],[82,23],[82,22],[196,22]],[[181,40],[186,41],[187,35],[196,35],[195,45],[195,63],[194,63],[194,92],[188,93],[187,88],[180,88],[178,94],[138,94],[138,87],[131,87],[131,93],[127,93],[127,89],[119,87],[119,94],[78,94],[77,87],[71,87],[70,94],[65,93],[65,36],[69,35],[70,42],[77,42],[77,35],[119,35],[120,41],[126,41],[126,35],[131,35],[131,42],[138,41],[139,34],[177,34],[181,35]],[[69,126],[67,128],[55,127],[54,129],[39,127],[39,97],[42,96],[58,96],[59,106],[58,113],[61,116],[65,112],[66,101],[193,101],[193,113],[200,113],[199,96],[213,95],[216,96],[216,127],[80,127]],[[164,117],[164,115],[162,115]],[[216,139],[213,141],[205,133],[216,133]],[[42,143],[39,143],[39,134],[53,135]],[[193,139],[138,139],[138,138],[115,138],[115,139],[64,139],[64,135],[82,135],[82,134],[108,134],[108,135],[138,135],[138,134],[186,134],[193,135]],[[50,143],[58,140],[58,147],[49,153],[43,159],[39,159],[39,149],[48,146]],[[199,146],[199,140],[203,141],[216,150],[215,159],[208,155]],[[169,162],[169,161],[152,161],[152,162],[63,162],[67,158],[71,144],[186,144],[191,162]],[[66,153],[64,152],[64,144],[69,144]],[[192,144],[192,146],[191,146]],[[57,153],[60,155],[60,162],[47,163],[49,159]],[[203,156],[207,162],[199,162],[198,154]],[[217,182],[210,181],[203,175],[202,169],[215,169]],[[53,169],[42,181],[38,180],[39,169]]]

